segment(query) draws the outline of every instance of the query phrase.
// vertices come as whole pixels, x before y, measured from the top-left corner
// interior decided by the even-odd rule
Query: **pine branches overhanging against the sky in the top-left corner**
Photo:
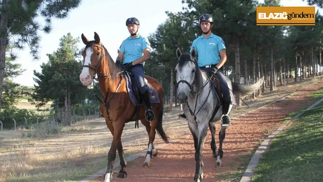
[[[11,0],[7,7],[0,6],[0,13],[8,16],[8,38],[15,37],[15,39],[8,39],[8,43],[20,49],[24,48],[24,44],[27,44],[32,56],[39,59],[40,36],[38,30],[50,33],[52,30],[51,20],[67,17],[68,12],[77,8],[80,2],[81,0]],[[39,16],[45,19],[45,25],[41,26],[36,21]]]

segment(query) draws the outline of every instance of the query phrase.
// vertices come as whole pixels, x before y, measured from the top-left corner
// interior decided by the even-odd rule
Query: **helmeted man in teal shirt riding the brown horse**
[[[126,26],[130,36],[127,37],[120,46],[119,55],[116,59],[116,64],[129,73],[133,73],[142,99],[146,104],[145,116],[148,122],[151,122],[155,115],[151,107],[148,88],[144,84],[144,62],[149,59],[150,43],[146,37],[142,37],[139,33],[139,20],[135,17],[130,17],[126,21]],[[123,59],[122,65],[121,61]]]

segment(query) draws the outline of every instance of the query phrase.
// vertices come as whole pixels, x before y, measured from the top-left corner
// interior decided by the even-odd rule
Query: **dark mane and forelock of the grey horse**
[[[183,53],[181,57],[178,60],[178,69],[182,70],[184,66],[187,65],[188,62],[194,62],[195,65],[195,89],[196,91],[201,91],[202,85],[203,85],[203,77],[202,77],[202,70],[197,64],[197,61],[195,58],[191,58],[191,55],[189,53]]]

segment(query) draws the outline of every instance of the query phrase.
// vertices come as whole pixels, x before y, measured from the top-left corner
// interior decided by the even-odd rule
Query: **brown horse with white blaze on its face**
[[[131,102],[127,92],[125,73],[120,71],[107,49],[100,42],[99,35],[94,32],[94,40],[89,41],[82,34],[82,41],[86,45],[82,52],[83,55],[83,70],[80,74],[80,80],[83,85],[91,85],[95,75],[98,75],[99,86],[101,89],[102,98],[100,100],[100,111],[106,120],[106,124],[113,135],[111,147],[108,153],[108,167],[104,177],[105,182],[112,179],[113,162],[116,158],[116,150],[120,157],[120,166],[118,177],[125,178],[127,173],[125,166],[127,165],[122,144],[121,134],[126,122],[135,121],[136,115],[135,105]],[[163,116],[163,98],[164,90],[160,82],[156,79],[146,76],[148,83],[156,90],[159,97],[159,103],[151,103],[153,112],[156,116],[154,120],[149,123],[145,117],[144,105],[140,106],[139,119],[146,127],[149,135],[148,150],[146,160],[143,166],[151,166],[151,157],[157,156],[157,149],[154,148],[153,142],[155,140],[155,130],[161,138],[168,143],[168,136],[162,128]]]

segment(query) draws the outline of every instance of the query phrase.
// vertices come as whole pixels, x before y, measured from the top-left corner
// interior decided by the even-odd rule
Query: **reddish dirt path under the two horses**
[[[233,171],[236,167],[242,166],[240,157],[250,155],[251,151],[260,145],[261,139],[276,130],[284,121],[284,118],[291,112],[308,107],[316,100],[306,95],[313,93],[323,87],[323,80],[307,87],[298,87],[298,91],[284,100],[280,100],[254,112],[247,113],[232,121],[232,125],[226,130],[222,159],[223,167],[215,167],[216,159],[212,156],[210,149],[211,135],[208,131],[207,138],[203,147],[203,181],[217,181],[218,175]],[[219,132],[220,125],[217,124],[216,130]],[[216,136],[216,145],[218,135]],[[142,168],[144,156],[134,161],[128,162],[126,171],[128,177],[125,179],[117,178],[118,170],[114,170],[114,182],[128,181],[193,181],[195,172],[194,146],[192,136],[182,136],[178,142],[164,145],[160,148],[158,157],[152,159],[151,168]],[[101,180],[102,177],[98,178]],[[231,181],[222,179],[224,181]]]

